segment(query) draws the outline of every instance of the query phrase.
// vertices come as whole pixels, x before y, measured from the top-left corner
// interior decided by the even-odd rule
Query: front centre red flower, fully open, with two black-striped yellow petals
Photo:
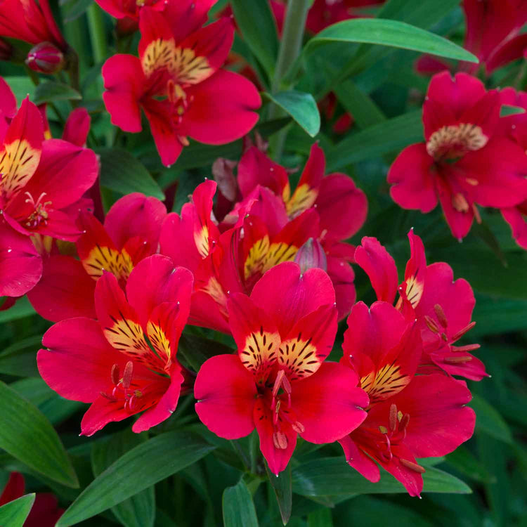
[[[230,330],[238,355],[207,360],[194,386],[196,412],[215,434],[235,439],[254,428],[273,474],[287,467],[297,434],[330,443],[363,422],[365,393],[357,377],[324,363],[337,332],[330,278],[281,263],[252,294],[231,294]],[[351,374],[351,375],[350,375]]]

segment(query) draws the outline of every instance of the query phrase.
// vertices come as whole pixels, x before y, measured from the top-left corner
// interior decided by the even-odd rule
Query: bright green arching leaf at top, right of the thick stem
[[[316,44],[330,42],[364,42],[410,49],[446,58],[477,63],[476,56],[443,37],[398,20],[354,18],[326,27],[306,44],[304,51]]]

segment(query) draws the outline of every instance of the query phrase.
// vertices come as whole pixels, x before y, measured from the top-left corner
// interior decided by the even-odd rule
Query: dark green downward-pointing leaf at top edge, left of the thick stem
[[[243,39],[269,77],[273,77],[278,57],[278,34],[269,2],[232,0],[230,5]]]

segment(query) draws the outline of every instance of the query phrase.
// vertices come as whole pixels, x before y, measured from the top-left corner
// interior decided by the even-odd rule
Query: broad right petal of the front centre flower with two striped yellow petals
[[[301,437],[311,443],[332,443],[356,429],[366,418],[362,408],[368,405],[357,382],[355,372],[337,363],[323,363],[311,377],[294,382],[291,407],[305,428]]]

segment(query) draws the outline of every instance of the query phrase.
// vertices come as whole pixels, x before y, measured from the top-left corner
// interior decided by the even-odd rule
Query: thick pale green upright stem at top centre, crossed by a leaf
[[[287,2],[287,14],[285,15],[284,30],[282,32],[282,40],[280,41],[275,75],[271,84],[271,93],[276,93],[281,88],[289,88],[289,86],[282,86],[282,79],[300,54],[310,4],[311,2],[309,0],[290,0]],[[269,119],[276,119],[284,115],[285,113],[278,106],[271,106]],[[286,136],[287,129],[283,129],[271,138],[271,148],[277,161],[282,157]]]

